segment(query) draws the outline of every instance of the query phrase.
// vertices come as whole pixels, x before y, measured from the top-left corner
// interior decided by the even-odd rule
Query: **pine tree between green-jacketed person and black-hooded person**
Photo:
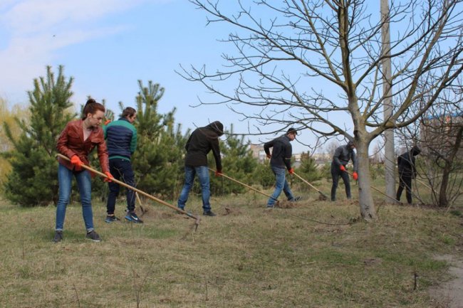
[[[182,184],[184,144],[186,135],[181,125],[175,128],[175,108],[161,115],[157,112],[164,88],[148,82],[147,87],[138,81],[137,95],[137,150],[132,166],[137,176],[137,188],[161,198],[175,198]]]

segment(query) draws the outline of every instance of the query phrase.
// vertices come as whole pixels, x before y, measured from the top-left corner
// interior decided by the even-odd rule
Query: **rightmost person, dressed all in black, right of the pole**
[[[397,157],[397,166],[399,168],[399,188],[397,189],[397,201],[400,201],[403,188],[406,188],[408,204],[412,204],[412,179],[417,176],[415,167],[415,156],[420,154],[419,147],[412,147],[410,152],[405,152]]]

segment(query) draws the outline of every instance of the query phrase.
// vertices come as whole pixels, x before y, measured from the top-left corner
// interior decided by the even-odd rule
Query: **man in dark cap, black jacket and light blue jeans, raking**
[[[270,159],[271,171],[274,172],[276,179],[275,191],[267,202],[267,208],[274,208],[276,199],[280,196],[281,191],[285,193],[288,201],[298,201],[301,198],[294,198],[291,188],[289,188],[288,181],[286,181],[285,178],[285,166],[290,174],[294,172],[293,168],[291,168],[293,147],[291,147],[289,142],[296,139],[296,134],[298,134],[296,129],[291,127],[283,136],[264,144],[265,154]],[[273,148],[271,154],[270,148]]]

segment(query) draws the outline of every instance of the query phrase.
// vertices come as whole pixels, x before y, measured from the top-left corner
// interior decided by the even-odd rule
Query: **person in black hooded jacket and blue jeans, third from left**
[[[185,149],[185,182],[177,201],[177,207],[184,210],[188,194],[193,186],[194,175],[201,184],[202,209],[204,216],[215,216],[209,203],[209,170],[207,169],[207,154],[212,150],[215,159],[216,176],[222,174],[222,159],[220,157],[219,137],[224,134],[224,125],[215,121],[206,127],[194,129],[189,136]]]

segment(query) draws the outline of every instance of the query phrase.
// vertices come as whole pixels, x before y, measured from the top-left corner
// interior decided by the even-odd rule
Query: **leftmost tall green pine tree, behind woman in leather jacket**
[[[75,115],[68,112],[73,104],[73,78],[66,80],[63,66],[55,78],[50,66],[46,77],[33,80],[34,90],[28,92],[30,119],[17,119],[21,137],[15,139],[9,124],[4,123],[7,137],[14,149],[4,157],[11,164],[11,172],[4,183],[5,195],[21,206],[47,205],[58,196],[58,164],[56,140]]]

